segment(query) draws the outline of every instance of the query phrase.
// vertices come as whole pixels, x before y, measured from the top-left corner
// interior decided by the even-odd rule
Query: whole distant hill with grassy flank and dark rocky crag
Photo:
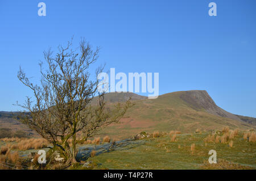
[[[146,96],[132,92],[112,92],[105,95],[105,100],[111,105],[125,102],[130,97],[135,106],[127,111],[120,123],[102,130],[101,136],[108,134],[111,137],[127,138],[141,131],[179,130],[189,133],[197,128],[201,131],[213,131],[225,126],[242,130],[256,127],[256,118],[234,115],[223,110],[204,90],[172,92],[160,95],[157,99],[147,99]],[[97,97],[92,104],[96,100]],[[17,123],[11,119],[10,112],[0,112],[0,127],[1,120],[9,121],[9,125],[5,123],[9,128]]]

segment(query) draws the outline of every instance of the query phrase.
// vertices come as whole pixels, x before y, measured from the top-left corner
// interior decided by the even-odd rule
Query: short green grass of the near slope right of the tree
[[[207,135],[208,133],[179,134],[176,142],[171,142],[169,136],[151,138],[146,144],[103,153],[89,158],[89,161],[97,163],[98,166],[94,169],[202,169],[202,164],[210,156],[209,150],[213,149],[217,151],[217,162],[225,159],[256,169],[255,142],[243,140],[240,133],[234,138],[232,148],[221,143],[208,143],[205,146],[204,138]],[[196,149],[192,154],[193,143]]]

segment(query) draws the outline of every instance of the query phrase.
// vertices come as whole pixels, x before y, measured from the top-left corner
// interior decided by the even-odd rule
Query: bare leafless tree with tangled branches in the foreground
[[[44,52],[47,69],[44,70],[42,62],[39,64],[40,86],[31,83],[21,68],[18,71],[19,80],[34,92],[34,100],[27,97],[24,104],[17,103],[29,112],[19,120],[53,144],[48,153],[50,156],[58,151],[67,164],[77,162],[77,143],[111,123],[117,123],[132,106],[128,100],[106,108],[105,92],[98,91],[97,79],[103,68],[100,66],[96,70],[94,80],[89,72],[90,65],[98,58],[99,49],[92,50],[84,39],[76,50],[71,47],[72,41],[69,41],[67,46],[58,47],[55,56],[51,50]],[[97,104],[92,105],[92,99],[97,99]],[[77,133],[81,133],[81,140],[77,140]],[[69,139],[72,139],[71,145]]]

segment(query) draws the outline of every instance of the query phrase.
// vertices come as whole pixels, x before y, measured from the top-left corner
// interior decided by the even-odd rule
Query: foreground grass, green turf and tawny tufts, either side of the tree
[[[124,149],[102,154],[92,150],[88,161],[94,165],[90,169],[256,169],[256,143],[253,142],[255,132],[236,132],[229,130],[229,132],[210,134],[201,131],[177,134],[178,132],[174,131],[169,135],[160,132],[158,137],[154,137],[153,133],[150,138],[144,138],[141,145],[127,145]],[[245,135],[246,139],[244,139]],[[228,141],[220,142],[222,137],[226,137]],[[109,140],[109,137],[103,138],[102,143]],[[24,158],[19,156],[24,154],[24,151],[19,150],[19,147],[15,150],[14,145],[19,145],[20,142],[26,145],[28,140],[13,138],[5,141],[8,142],[0,141],[0,162],[24,165]],[[31,144],[36,144],[39,140],[30,141]],[[87,142],[85,144],[88,144]],[[101,144],[100,137],[94,138],[91,142]],[[31,147],[36,148],[35,145]],[[217,151],[217,164],[209,165],[205,162],[210,157],[209,150]],[[26,163],[26,166],[30,169],[38,169],[40,166],[36,162],[36,157],[37,154],[34,161]],[[49,168],[60,169],[60,167],[61,165],[55,162]],[[75,169],[84,168],[76,166]]]

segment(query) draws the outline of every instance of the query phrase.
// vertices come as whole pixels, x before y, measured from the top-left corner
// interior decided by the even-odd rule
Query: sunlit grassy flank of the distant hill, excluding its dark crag
[[[224,126],[242,130],[254,128],[253,125],[215,116],[204,110],[193,110],[180,99],[181,94],[182,91],[160,95],[158,99],[135,100],[135,106],[127,111],[121,123],[105,128],[101,136],[108,134],[112,138],[127,138],[141,131],[168,132],[172,129],[189,133],[197,128],[211,131]]]

